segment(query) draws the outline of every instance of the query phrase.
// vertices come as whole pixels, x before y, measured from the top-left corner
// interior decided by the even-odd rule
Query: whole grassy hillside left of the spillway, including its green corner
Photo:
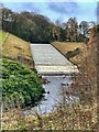
[[[30,43],[6,32],[0,32],[0,40],[1,43],[3,42],[2,56],[4,58],[18,61],[30,67],[33,67],[34,63],[30,50]]]

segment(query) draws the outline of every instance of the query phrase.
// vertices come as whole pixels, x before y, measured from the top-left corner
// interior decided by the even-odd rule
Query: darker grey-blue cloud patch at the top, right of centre
[[[70,14],[77,12],[79,7],[76,2],[52,2],[48,3],[48,9],[57,13]]]

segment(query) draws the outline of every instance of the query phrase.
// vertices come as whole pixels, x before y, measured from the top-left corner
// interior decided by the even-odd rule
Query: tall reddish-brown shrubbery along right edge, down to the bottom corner
[[[88,46],[87,46],[87,56],[84,61],[81,61],[81,65],[79,68],[79,74],[75,78],[75,84],[73,84],[72,88],[74,89],[74,92],[79,95],[80,103],[81,106],[88,106],[89,110],[92,113],[92,117],[95,119],[95,123],[91,128],[99,131],[99,121],[97,119],[98,117],[98,81],[97,81],[97,44],[98,44],[98,37],[99,37],[99,26],[91,29],[91,34],[89,37]],[[96,109],[91,109],[96,106]],[[89,119],[90,121],[90,119]]]

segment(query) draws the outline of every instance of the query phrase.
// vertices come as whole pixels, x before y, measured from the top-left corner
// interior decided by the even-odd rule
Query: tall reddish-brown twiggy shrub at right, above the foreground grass
[[[77,88],[80,88],[81,102],[92,106],[97,100],[97,37],[99,36],[99,26],[91,30],[88,42],[87,57],[81,62],[80,74],[76,78]],[[80,86],[80,84],[82,86]],[[76,86],[74,86],[76,87]]]

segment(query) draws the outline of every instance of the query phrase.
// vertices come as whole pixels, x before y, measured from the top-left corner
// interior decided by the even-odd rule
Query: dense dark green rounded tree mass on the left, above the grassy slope
[[[52,25],[47,18],[35,13],[14,13],[2,9],[2,29],[31,43],[50,43],[52,38]]]

